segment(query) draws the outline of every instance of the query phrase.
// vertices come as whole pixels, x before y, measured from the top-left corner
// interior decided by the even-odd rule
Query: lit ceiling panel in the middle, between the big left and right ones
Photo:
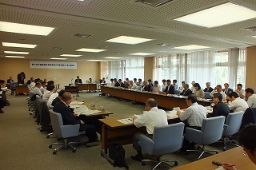
[[[106,40],[106,42],[115,42],[115,43],[122,43],[122,44],[139,44],[142,42],[149,42],[153,39],[147,39],[147,38],[134,38],[134,37],[128,37],[128,36],[119,36],[117,38],[111,38],[109,40]]]

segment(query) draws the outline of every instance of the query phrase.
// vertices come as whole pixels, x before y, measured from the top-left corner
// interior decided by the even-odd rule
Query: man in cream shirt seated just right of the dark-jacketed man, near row
[[[232,92],[229,94],[228,97],[229,101],[231,101],[231,104],[229,105],[230,109],[233,110],[234,112],[245,112],[246,109],[249,107],[247,102],[240,98],[238,96],[238,93]]]

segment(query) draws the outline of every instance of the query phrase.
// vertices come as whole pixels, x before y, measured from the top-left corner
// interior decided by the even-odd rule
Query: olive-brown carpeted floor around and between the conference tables
[[[80,93],[79,98],[87,103],[93,102],[97,106],[104,106],[105,109],[114,113],[110,117],[142,114],[145,107],[144,105],[132,105],[131,101],[99,97],[98,94]],[[90,144],[90,148],[86,148],[84,145],[78,146],[75,153],[68,148],[53,155],[54,149],[48,148],[48,145],[56,142],[57,138],[50,136],[49,139],[46,139],[47,133],[39,131],[40,126],[36,125],[33,116],[28,112],[27,96],[14,97],[7,94],[7,97],[11,105],[3,109],[4,114],[0,114],[0,169],[119,169],[114,168],[100,155],[100,141]],[[130,169],[152,168],[153,164],[143,167],[141,163],[131,160],[130,156],[136,153],[131,144],[125,145],[124,148],[126,149],[126,164]],[[212,144],[208,148],[218,149],[222,152],[222,143]],[[234,146],[228,144],[228,148],[234,148]],[[179,160],[178,166],[180,166],[196,160],[198,154],[199,152],[191,152],[189,155],[184,152],[175,152],[164,156],[164,158],[177,159]],[[210,156],[210,154],[206,153],[205,156]],[[157,169],[168,168],[162,166]]]

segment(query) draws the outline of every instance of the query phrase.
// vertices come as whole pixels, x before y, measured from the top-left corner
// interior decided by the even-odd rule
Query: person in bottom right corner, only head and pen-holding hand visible
[[[256,125],[247,125],[239,132],[238,142],[242,146],[249,159],[256,164]],[[236,170],[230,163],[222,164],[223,168]]]

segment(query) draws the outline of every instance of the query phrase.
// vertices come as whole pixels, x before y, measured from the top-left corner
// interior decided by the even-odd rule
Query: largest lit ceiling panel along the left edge
[[[47,36],[53,31],[53,27],[33,26],[13,22],[0,22],[0,31],[18,34],[32,34]]]

